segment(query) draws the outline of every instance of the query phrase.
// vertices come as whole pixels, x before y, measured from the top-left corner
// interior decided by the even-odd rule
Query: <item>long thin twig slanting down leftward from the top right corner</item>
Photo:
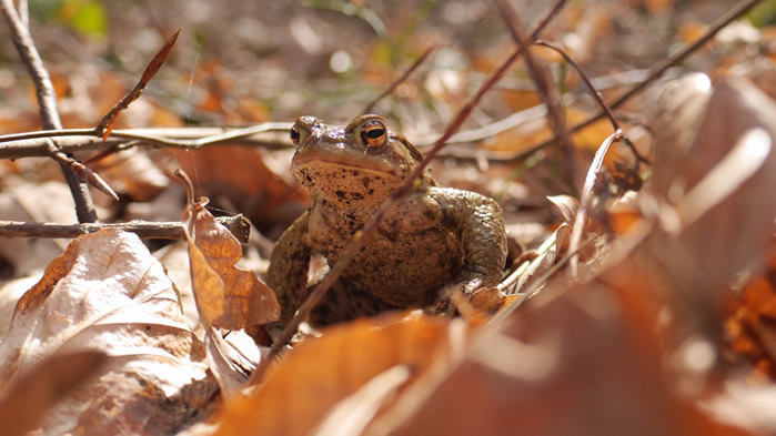
[[[701,37],[698,37],[698,39],[696,39],[693,43],[683,47],[676,53],[674,53],[674,54],[669,55],[668,58],[666,58],[665,60],[652,65],[649,68],[649,73],[647,74],[646,79],[644,79],[638,84],[632,87],[629,90],[625,91],[622,95],[616,98],[609,104],[609,108],[611,109],[619,108],[623,103],[628,101],[632,97],[634,97],[637,93],[639,93],[641,91],[643,91],[647,84],[652,83],[655,79],[663,75],[663,73],[667,69],[684,61],[688,55],[693,54],[696,50],[698,50],[706,42],[708,42],[712,38],[714,38],[714,36],[717,34],[723,28],[725,28],[727,24],[729,24],[734,20],[738,19],[740,16],[746,13],[749,9],[754,8],[760,1],[763,1],[763,0],[746,0],[746,1],[738,3],[736,7],[734,7],[729,11],[727,11],[725,14],[723,14],[716,21],[714,21],[714,23],[712,23],[712,26],[708,29],[706,29],[706,31]],[[568,132],[576,132],[581,129],[584,129],[584,128],[593,124],[594,122],[601,120],[605,115],[606,115],[605,112],[602,110],[598,113],[596,113],[595,115],[588,118],[587,120],[585,120],[578,124],[575,124],[574,126],[572,126],[568,130]],[[537,152],[538,150],[542,150],[545,146],[554,143],[555,141],[558,140],[558,138],[560,138],[558,135],[555,135],[555,136],[553,136],[544,142],[541,142],[536,145],[532,145],[532,146],[521,151],[516,155],[512,156],[511,160],[518,161],[518,160],[525,159],[526,156]]]

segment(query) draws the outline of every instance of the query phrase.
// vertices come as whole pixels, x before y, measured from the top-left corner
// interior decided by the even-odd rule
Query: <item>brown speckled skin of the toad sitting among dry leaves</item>
[[[300,132],[292,170],[312,194],[312,207],[280,237],[266,283],[288,323],[312,290],[308,268],[313,252],[333,265],[352,235],[415,169],[421,154],[401,135],[387,132],[383,145],[367,148],[362,115],[347,126],[312,116],[296,121]],[[325,325],[405,307],[426,307],[441,291],[458,285],[466,295],[495,286],[506,260],[501,207],[486,196],[439,187],[425,173],[415,191],[386,215],[324,300],[311,322]]]

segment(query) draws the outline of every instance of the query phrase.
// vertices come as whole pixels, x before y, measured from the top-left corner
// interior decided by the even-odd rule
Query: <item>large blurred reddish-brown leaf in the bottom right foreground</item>
[[[674,395],[642,294],[562,287],[474,337],[458,365],[429,372],[364,434],[740,434]]]

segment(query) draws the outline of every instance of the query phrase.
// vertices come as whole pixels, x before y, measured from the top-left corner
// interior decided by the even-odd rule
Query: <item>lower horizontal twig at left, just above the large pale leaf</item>
[[[215,219],[234,234],[240,242],[248,242],[245,237],[245,219],[242,215],[219,216]],[[118,229],[131,232],[145,240],[182,240],[184,223],[179,222],[149,222],[130,221],[127,223],[27,223],[19,221],[0,221],[0,237],[78,237],[83,234],[99,232],[103,229]],[[249,224],[250,229],[250,224]]]

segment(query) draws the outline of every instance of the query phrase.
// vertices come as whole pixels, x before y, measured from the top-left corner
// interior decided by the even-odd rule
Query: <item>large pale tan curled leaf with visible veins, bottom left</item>
[[[138,236],[73,241],[19,301],[0,344],[0,388],[47,356],[109,355],[41,426],[46,434],[169,434],[195,422],[218,389],[163,266]]]

